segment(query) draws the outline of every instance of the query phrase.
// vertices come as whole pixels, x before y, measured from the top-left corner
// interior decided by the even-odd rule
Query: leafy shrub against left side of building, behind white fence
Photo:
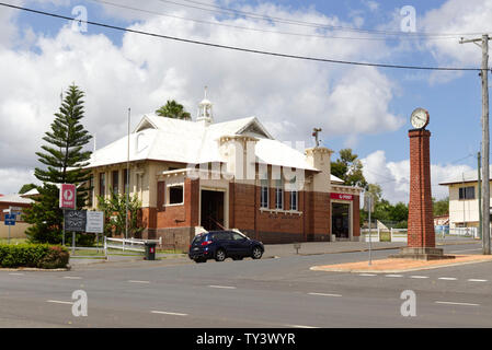
[[[139,235],[144,228],[138,226],[138,211],[141,207],[137,195],[128,198],[128,236]],[[104,232],[111,236],[125,235],[126,231],[126,194],[111,191],[110,198],[98,196],[99,210],[104,212]]]

